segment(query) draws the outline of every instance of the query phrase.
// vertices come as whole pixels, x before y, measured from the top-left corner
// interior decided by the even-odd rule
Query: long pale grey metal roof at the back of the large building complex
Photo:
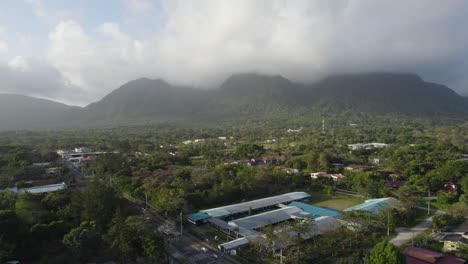
[[[291,192],[277,196],[267,197],[263,199],[253,200],[244,203],[238,203],[233,205],[221,206],[217,208],[201,210],[200,212],[206,213],[211,217],[223,217],[237,213],[248,212],[252,210],[261,209],[264,207],[270,207],[282,203],[289,203],[296,200],[301,200],[310,197],[310,194],[305,192]]]

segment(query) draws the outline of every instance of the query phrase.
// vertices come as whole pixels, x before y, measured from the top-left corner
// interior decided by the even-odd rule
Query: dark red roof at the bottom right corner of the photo
[[[463,264],[465,260],[420,247],[407,247],[403,251],[407,264]]]

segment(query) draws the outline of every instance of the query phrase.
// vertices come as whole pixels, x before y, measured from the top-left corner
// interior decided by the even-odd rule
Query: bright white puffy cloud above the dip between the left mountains
[[[74,21],[58,24],[50,33],[47,58],[71,85],[97,97],[124,82],[143,76],[142,44],[131,40],[116,24],[103,24],[98,32],[109,39],[92,39]]]

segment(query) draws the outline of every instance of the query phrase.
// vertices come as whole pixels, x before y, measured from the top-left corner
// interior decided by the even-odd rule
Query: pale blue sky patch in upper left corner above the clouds
[[[150,3],[150,8],[144,12],[132,10],[133,2]],[[0,29],[3,39],[8,40],[9,51],[0,53],[2,59],[46,48],[49,32],[63,20],[80,23],[95,37],[99,37],[94,31],[98,25],[118,22],[122,30],[142,38],[157,34],[163,19],[159,1],[3,0],[0,6]]]

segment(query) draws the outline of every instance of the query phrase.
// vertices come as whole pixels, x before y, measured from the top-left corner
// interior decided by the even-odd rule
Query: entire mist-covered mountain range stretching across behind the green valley
[[[84,108],[0,94],[0,129],[139,124],[172,119],[275,118],[284,114],[403,114],[467,119],[468,100],[446,86],[414,74],[336,75],[313,84],[281,76],[236,74],[218,89],[130,81]]]

